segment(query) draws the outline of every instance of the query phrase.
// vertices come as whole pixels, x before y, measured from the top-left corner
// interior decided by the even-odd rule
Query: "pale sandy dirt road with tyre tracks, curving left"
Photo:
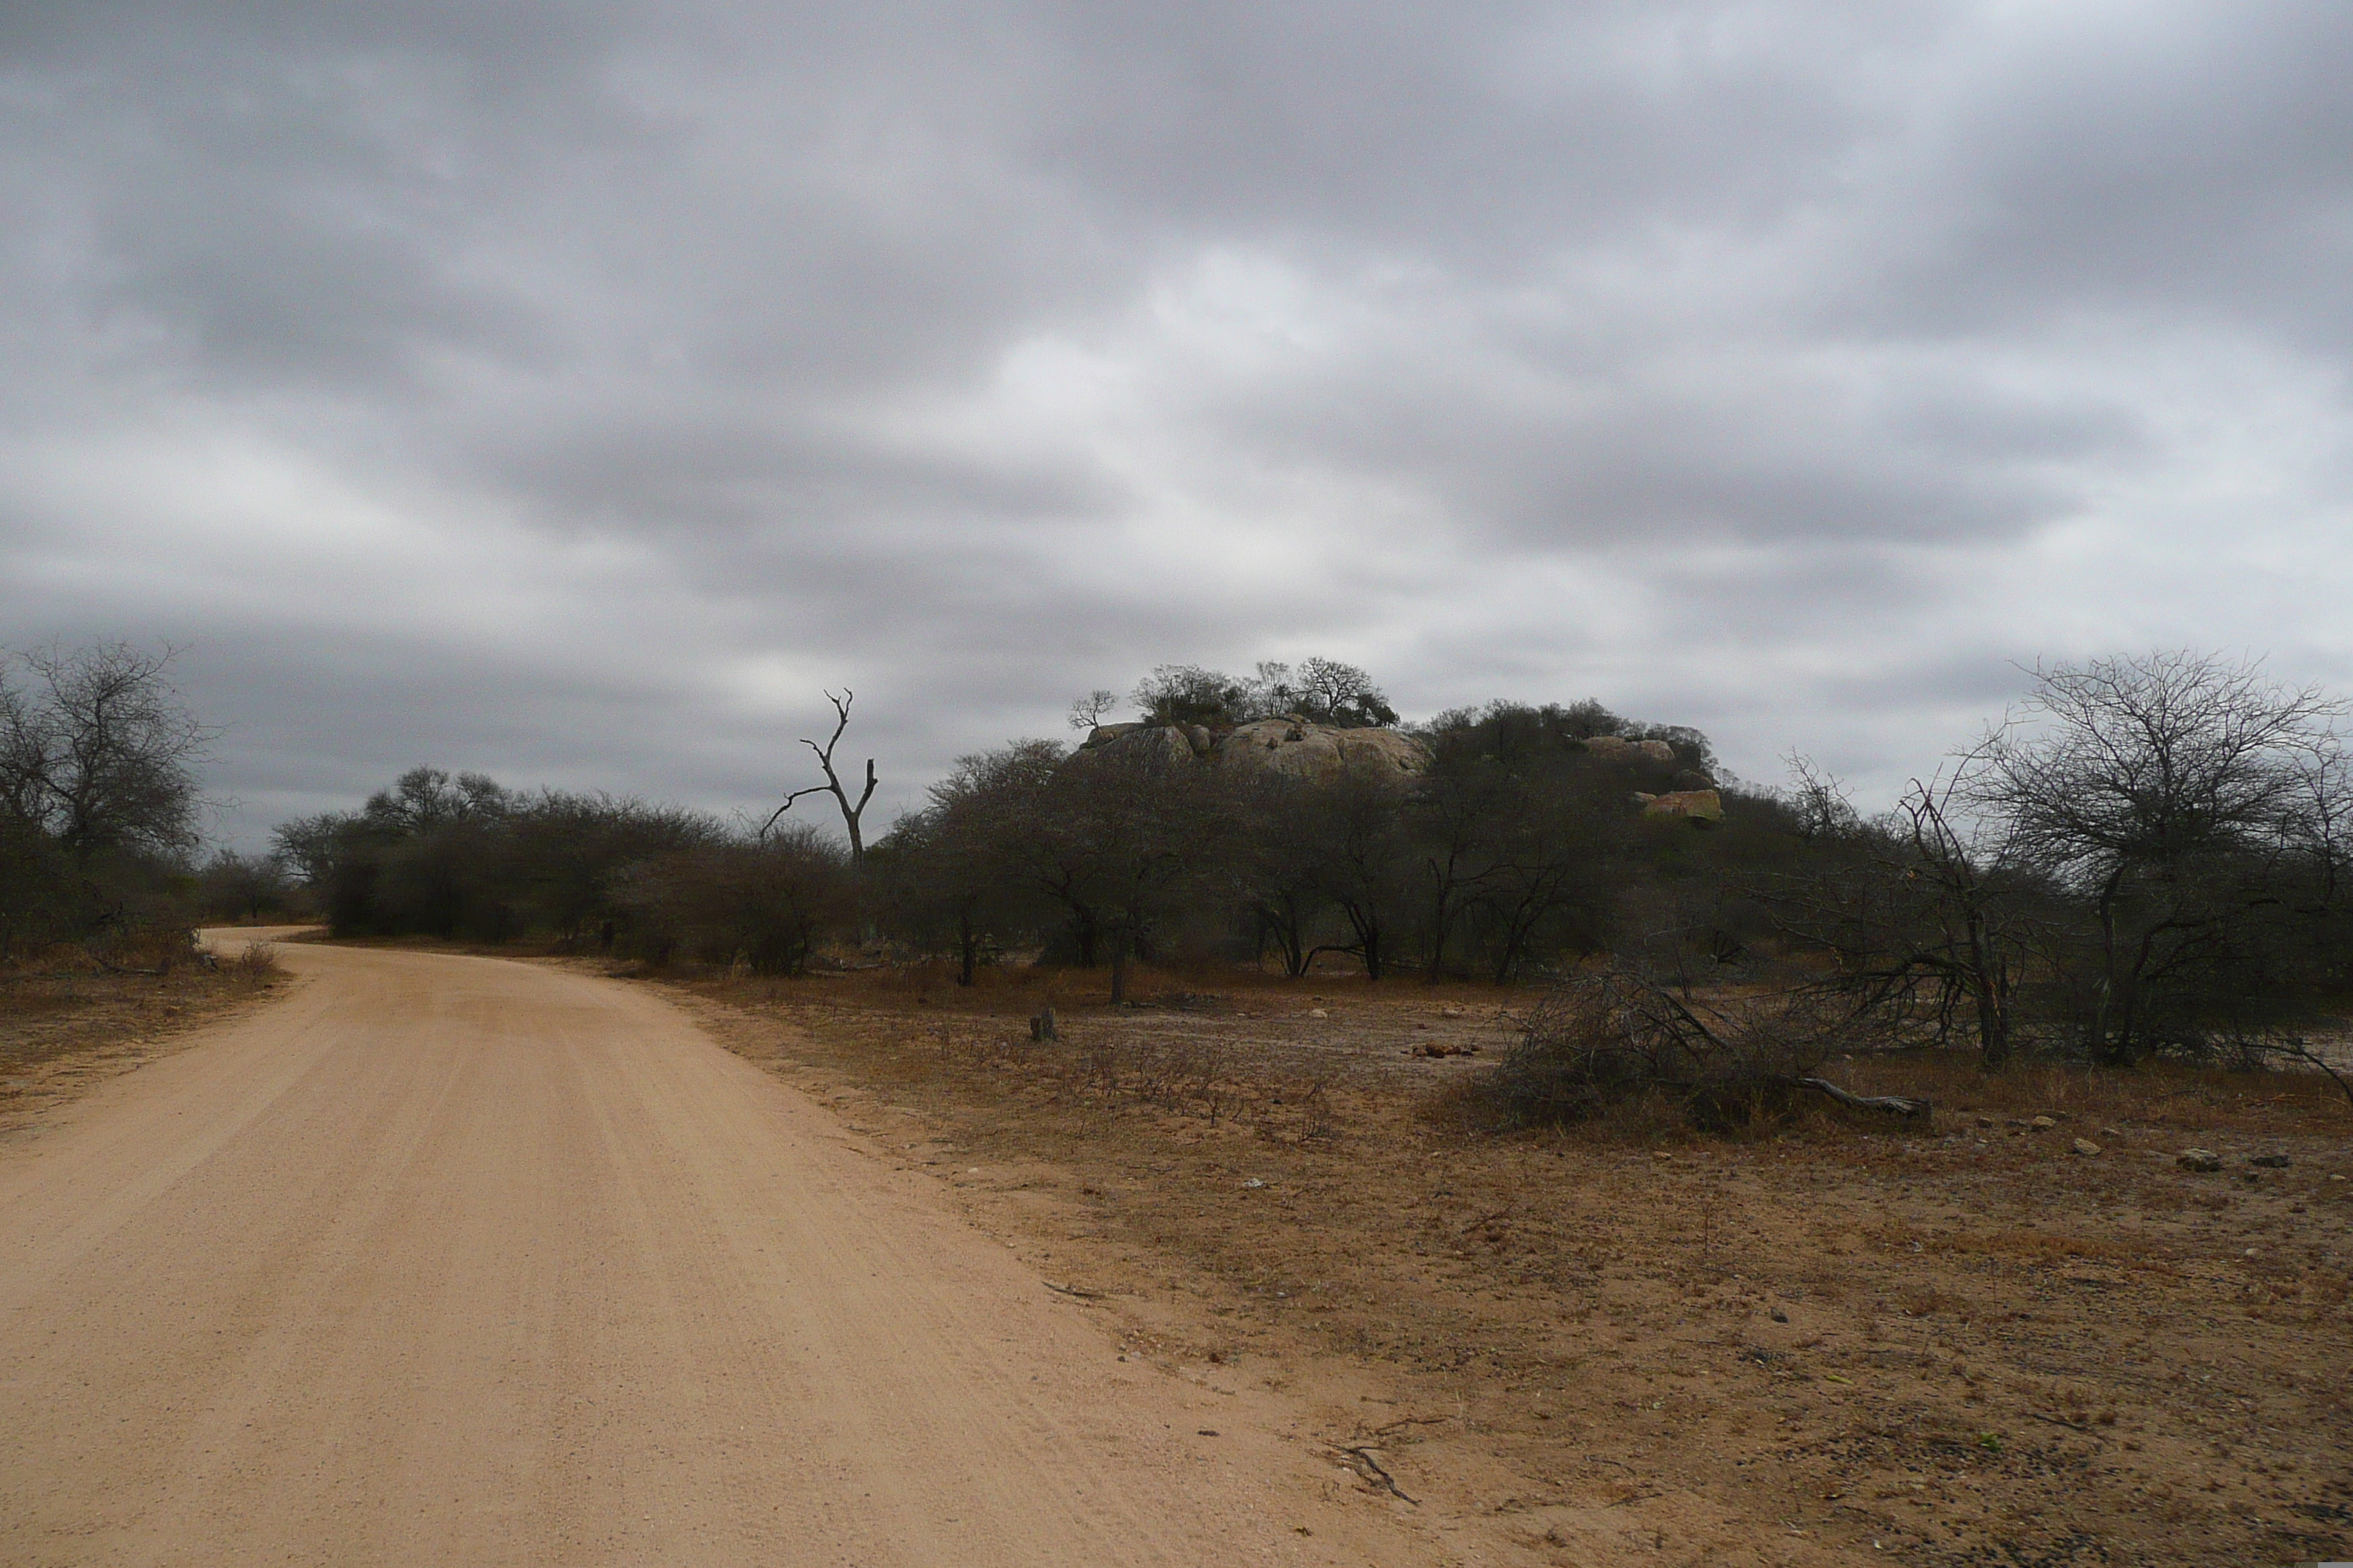
[[[0,1150],[0,1561],[1433,1556],[659,999],[282,959]]]

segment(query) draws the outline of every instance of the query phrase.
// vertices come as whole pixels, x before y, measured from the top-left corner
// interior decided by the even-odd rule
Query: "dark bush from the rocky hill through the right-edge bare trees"
[[[1179,665],[1136,703],[1214,729],[1271,689]],[[1659,994],[1784,994],[1784,1039],[2254,1063],[2353,985],[2341,712],[2212,658],[2061,665],[1875,818],[1805,766],[1786,792],[1715,783],[1706,736],[1598,703],[1445,712],[1412,778],[1033,741],[901,818],[875,910],[918,947],[953,931],[965,978],[1009,950],[1497,983],[1609,959]],[[1715,825],[1633,804],[1711,785]]]

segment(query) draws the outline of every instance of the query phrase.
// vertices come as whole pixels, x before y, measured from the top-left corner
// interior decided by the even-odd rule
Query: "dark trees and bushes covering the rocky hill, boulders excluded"
[[[1304,670],[1329,675],[1320,665]],[[1165,665],[1136,703],[1214,729],[1271,703],[1369,712],[1379,698],[1360,672],[1308,698],[1297,679]],[[1101,696],[1078,703],[1082,719],[1104,717]],[[1729,872],[1802,853],[1791,811],[1741,795],[1729,823],[1694,830],[1635,806],[1638,790],[1713,783],[1697,731],[1595,703],[1489,703],[1414,736],[1433,759],[1419,778],[1294,778],[1052,741],[965,757],[875,846],[875,910],[911,945],[953,943],[967,980],[984,954],[1031,950],[1111,966],[1113,992],[1132,954],[1508,983],[1626,940],[1708,978],[1772,945]]]

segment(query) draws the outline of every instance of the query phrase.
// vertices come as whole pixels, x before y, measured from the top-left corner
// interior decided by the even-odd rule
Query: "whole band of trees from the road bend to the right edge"
[[[1362,672],[1313,677],[1162,668],[1139,724],[960,759],[856,867],[809,823],[753,835],[431,769],[278,844],[348,933],[544,933],[762,973],[828,950],[939,957],[962,980],[1101,966],[1113,997],[1134,959],[1492,983],[1614,964],[1805,987],[1882,1041],[1988,1063],[2252,1060],[2353,980],[2344,708],[2249,668],[2049,670],[1875,818],[1802,762],[1793,788],[1732,785],[1697,731],[1598,703],[1438,715],[1405,731],[1414,766],[1226,764],[1238,726],[1391,717]],[[1699,813],[1645,809],[1704,790]]]

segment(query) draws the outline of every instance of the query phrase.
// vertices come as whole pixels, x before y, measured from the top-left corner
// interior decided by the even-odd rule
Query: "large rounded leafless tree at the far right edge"
[[[2002,853],[2080,914],[2054,973],[2097,1060],[2275,1032],[2344,985],[2344,717],[2254,665],[2097,658],[1965,752]]]

